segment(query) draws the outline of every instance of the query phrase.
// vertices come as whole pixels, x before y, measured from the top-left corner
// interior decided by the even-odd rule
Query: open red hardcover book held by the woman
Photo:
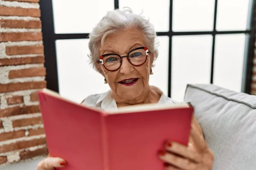
[[[38,97],[50,156],[67,161],[59,170],[162,170],[164,142],[188,143],[193,108],[186,104],[107,112],[48,89]]]

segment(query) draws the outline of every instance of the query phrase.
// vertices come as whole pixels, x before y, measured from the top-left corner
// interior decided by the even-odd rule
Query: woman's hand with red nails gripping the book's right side
[[[193,144],[188,146],[167,141],[165,151],[159,152],[159,157],[165,162],[166,170],[211,170],[214,154],[209,149],[202,136],[192,128],[190,137]]]

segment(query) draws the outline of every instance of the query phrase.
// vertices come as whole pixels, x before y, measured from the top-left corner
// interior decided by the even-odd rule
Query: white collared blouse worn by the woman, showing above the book
[[[162,95],[157,104],[165,104],[165,103],[169,103],[173,105],[179,102],[176,102],[175,100],[169,98],[162,92]],[[109,110],[109,109],[117,110],[116,101],[113,99],[111,95],[111,90],[102,94],[93,94],[93,95],[87,96],[87,98],[84,99],[84,101],[81,104],[87,105],[90,107],[101,108],[103,110]]]

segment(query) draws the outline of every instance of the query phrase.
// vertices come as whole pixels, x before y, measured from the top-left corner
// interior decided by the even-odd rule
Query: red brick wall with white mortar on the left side
[[[37,91],[46,87],[39,0],[0,0],[0,166],[48,153]]]

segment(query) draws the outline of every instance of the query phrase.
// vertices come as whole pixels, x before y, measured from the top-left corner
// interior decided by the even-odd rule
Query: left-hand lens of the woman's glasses
[[[121,64],[120,57],[117,55],[103,57],[103,63],[108,70],[116,70]]]

